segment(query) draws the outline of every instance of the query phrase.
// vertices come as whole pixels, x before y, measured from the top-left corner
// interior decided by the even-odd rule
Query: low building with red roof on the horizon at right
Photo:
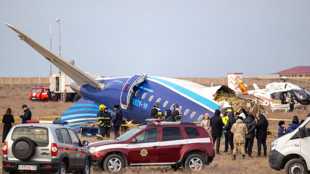
[[[280,72],[272,73],[279,74],[280,77],[294,77],[294,78],[310,78],[310,66],[298,66],[286,69]]]

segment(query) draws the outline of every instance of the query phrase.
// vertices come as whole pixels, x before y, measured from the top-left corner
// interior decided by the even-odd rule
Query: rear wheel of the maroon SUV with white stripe
[[[185,159],[185,168],[191,171],[199,171],[203,168],[205,160],[198,154],[191,154]]]

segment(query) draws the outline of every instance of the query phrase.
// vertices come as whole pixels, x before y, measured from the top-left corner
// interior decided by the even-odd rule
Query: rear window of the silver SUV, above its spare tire
[[[19,137],[28,137],[38,147],[46,147],[49,144],[48,130],[42,127],[16,127],[13,130],[11,139],[14,141]]]

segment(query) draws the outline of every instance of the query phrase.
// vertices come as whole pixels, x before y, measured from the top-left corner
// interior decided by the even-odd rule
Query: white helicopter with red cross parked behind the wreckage
[[[265,80],[265,79],[260,79]],[[268,106],[270,104],[272,111],[274,110],[288,110],[290,108],[289,99],[291,96],[294,98],[296,109],[305,110],[310,105],[310,93],[305,89],[301,89],[299,86],[294,85],[287,80],[300,80],[302,79],[288,79],[286,76],[281,77],[281,82],[273,82],[266,85],[265,89],[259,89],[256,84],[253,84],[254,90],[248,90],[247,94],[253,94],[257,98],[264,100],[263,105]],[[310,81],[307,81],[310,82]]]

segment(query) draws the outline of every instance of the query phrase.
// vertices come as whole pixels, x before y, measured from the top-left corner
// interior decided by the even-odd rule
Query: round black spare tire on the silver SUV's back
[[[30,159],[36,150],[34,141],[28,137],[19,137],[12,144],[12,153],[15,158],[25,161]]]

